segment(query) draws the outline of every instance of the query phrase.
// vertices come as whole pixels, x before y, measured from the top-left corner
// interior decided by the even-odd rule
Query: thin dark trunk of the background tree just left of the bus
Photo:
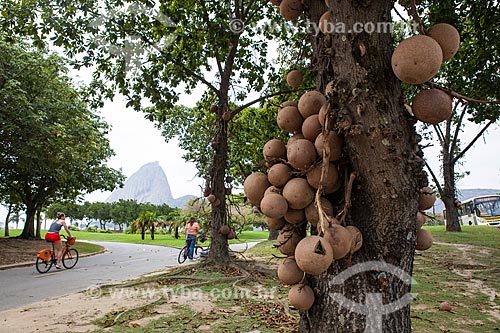
[[[443,180],[444,187],[441,193],[446,209],[446,231],[460,232],[460,221],[458,219],[458,208],[455,205],[455,165],[453,164],[453,156],[443,149]]]

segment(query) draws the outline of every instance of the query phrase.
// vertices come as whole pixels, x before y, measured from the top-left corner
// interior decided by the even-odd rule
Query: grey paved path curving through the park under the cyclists
[[[70,270],[56,270],[52,266],[48,273],[39,274],[33,265],[0,271],[0,311],[178,265],[177,248],[116,242],[92,243],[104,246],[108,251],[80,258]],[[247,244],[251,247],[257,243]],[[236,244],[231,245],[231,248],[240,251],[247,245]]]

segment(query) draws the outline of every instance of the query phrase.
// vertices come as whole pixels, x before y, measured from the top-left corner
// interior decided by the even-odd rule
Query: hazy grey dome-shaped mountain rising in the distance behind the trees
[[[130,176],[122,188],[111,193],[106,202],[115,202],[120,199],[136,200],[139,203],[154,205],[167,204],[170,207],[182,207],[194,195],[185,195],[174,199],[167,176],[158,162],[143,165],[136,173]]]

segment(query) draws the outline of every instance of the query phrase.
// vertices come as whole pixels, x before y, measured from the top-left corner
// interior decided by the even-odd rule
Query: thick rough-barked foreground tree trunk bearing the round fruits
[[[335,22],[349,31],[357,22],[390,22],[394,1],[331,4]],[[323,2],[314,1],[309,16],[317,22],[325,11]],[[334,81],[330,113],[357,176],[346,224],[360,229],[363,246],[321,276],[307,276],[316,300],[301,314],[299,332],[411,332],[408,280],[418,190],[427,178],[415,121],[391,69],[392,43],[390,33],[366,32],[321,35],[313,43],[317,88]],[[350,278],[342,279],[341,272]]]

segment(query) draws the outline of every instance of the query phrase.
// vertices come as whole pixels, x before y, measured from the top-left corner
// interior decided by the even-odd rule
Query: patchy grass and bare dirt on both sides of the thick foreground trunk
[[[417,296],[411,305],[413,331],[499,331],[499,230],[465,227],[463,233],[454,234],[446,233],[443,227],[428,229],[437,242],[450,244],[435,244],[428,251],[415,255],[413,277],[416,284],[412,292]],[[262,236],[257,233],[250,237]],[[275,269],[280,260],[273,256],[281,254],[271,241],[261,242],[245,253],[247,259],[259,258],[260,263]],[[145,279],[150,282],[142,287],[135,285],[136,291],[142,288],[149,293],[158,288],[160,297],[153,297],[153,302],[141,307],[107,313],[94,321],[101,327],[94,332],[297,330],[299,313],[288,307],[288,287],[280,285],[275,276],[257,274],[252,275],[254,279],[234,282],[238,276],[230,270],[221,272],[202,264],[181,269],[149,276]],[[241,294],[245,290],[249,294]],[[261,291],[267,291],[272,297],[260,298]],[[439,311],[443,301],[451,304],[450,312]]]

